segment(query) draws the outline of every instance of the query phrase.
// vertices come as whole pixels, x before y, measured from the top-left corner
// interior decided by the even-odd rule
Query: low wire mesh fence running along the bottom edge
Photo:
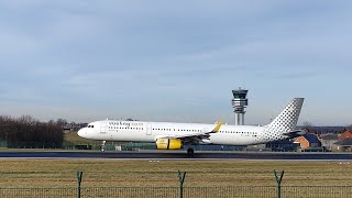
[[[351,186],[283,186],[280,198],[350,198]],[[0,188],[1,198],[274,198],[275,186]]]

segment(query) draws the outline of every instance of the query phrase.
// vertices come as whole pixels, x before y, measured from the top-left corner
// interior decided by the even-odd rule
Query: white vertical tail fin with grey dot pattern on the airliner
[[[272,123],[267,124],[265,133],[271,140],[279,140],[284,133],[289,133],[295,130],[304,98],[295,98],[282,113],[279,113]]]

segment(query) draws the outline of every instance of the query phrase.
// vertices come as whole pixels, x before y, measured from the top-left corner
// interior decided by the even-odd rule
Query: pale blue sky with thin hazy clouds
[[[0,114],[352,124],[352,1],[1,0]]]

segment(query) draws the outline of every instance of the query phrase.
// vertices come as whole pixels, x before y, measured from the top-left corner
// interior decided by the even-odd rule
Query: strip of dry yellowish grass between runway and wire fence
[[[350,183],[352,164],[277,161],[118,161],[2,160],[1,187],[75,187],[76,170],[84,187],[178,186],[177,170],[187,172],[185,186],[275,186],[274,169],[285,170],[286,186],[341,186]]]

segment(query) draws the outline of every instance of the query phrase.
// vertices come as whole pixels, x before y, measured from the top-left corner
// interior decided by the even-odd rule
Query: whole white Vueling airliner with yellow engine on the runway
[[[102,141],[155,142],[158,150],[180,150],[189,145],[188,155],[194,155],[191,145],[255,145],[304,135],[295,130],[304,98],[292,102],[266,125],[227,125],[222,122],[175,123],[103,120],[89,123],[77,133],[79,136]]]

